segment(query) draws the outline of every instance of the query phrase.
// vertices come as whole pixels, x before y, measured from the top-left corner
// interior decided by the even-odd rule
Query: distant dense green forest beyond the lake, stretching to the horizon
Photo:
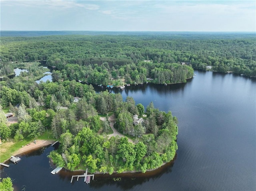
[[[1,75],[10,62],[44,60],[54,80],[95,84],[183,83],[194,69],[256,76],[252,33],[1,37]],[[180,65],[185,63],[186,65]],[[178,65],[177,65],[178,64]]]

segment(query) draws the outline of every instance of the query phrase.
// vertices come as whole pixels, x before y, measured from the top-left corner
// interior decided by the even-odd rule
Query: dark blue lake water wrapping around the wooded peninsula
[[[10,176],[16,190],[183,191],[256,190],[256,79],[234,74],[195,71],[186,84],[126,87],[144,107],[153,101],[178,118],[178,150],[174,162],[146,174],[96,175],[86,185],[70,183],[69,171],[52,175],[46,157],[53,147],[20,155],[1,177]],[[101,87],[95,87],[99,91]],[[79,172],[76,174],[82,174]],[[114,181],[113,177],[121,177]]]

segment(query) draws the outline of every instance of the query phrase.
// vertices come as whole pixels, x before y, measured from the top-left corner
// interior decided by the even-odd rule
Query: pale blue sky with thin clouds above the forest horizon
[[[255,0],[0,0],[0,30],[255,32]]]

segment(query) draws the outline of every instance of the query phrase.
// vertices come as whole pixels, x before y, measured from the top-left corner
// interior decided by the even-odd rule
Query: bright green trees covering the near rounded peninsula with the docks
[[[0,109],[1,138],[36,139],[51,131],[60,142],[59,150],[50,153],[58,166],[70,170],[87,167],[90,172],[110,174],[145,172],[171,161],[178,149],[177,118],[154,108],[152,102],[145,112],[132,97],[123,101],[120,94],[97,94],[91,85],[74,80],[41,82],[30,93],[19,88],[1,82],[1,104],[9,104],[10,112],[18,117],[18,123],[8,124]],[[78,102],[74,102],[76,94],[80,95]],[[99,114],[105,120],[100,120]],[[109,117],[124,137],[108,136],[112,134]]]

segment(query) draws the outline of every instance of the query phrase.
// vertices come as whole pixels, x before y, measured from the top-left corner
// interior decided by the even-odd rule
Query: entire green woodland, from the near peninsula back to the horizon
[[[1,37],[0,53],[1,139],[48,132],[60,142],[49,155],[56,165],[92,173],[145,172],[171,161],[178,120],[153,102],[145,111],[132,97],[96,93],[90,84],[186,83],[193,69],[256,76],[255,38],[247,33]],[[15,76],[16,68],[26,71]],[[52,82],[36,83],[47,71]]]

